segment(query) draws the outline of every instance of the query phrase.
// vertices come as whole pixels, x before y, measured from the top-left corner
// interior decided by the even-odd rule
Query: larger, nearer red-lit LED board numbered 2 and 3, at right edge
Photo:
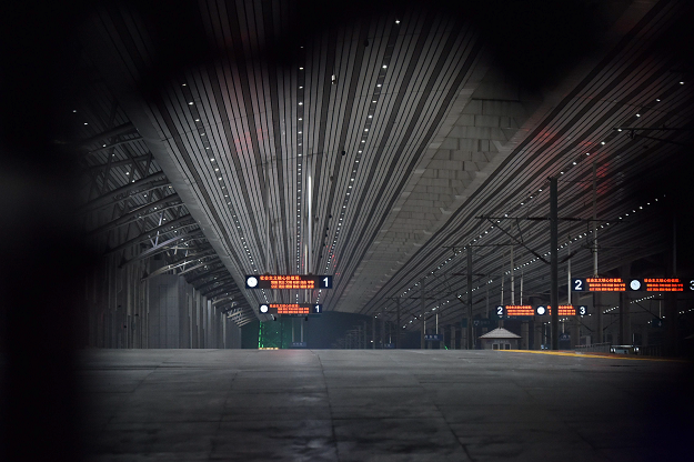
[[[684,292],[694,291],[694,279],[683,278],[576,278],[571,280],[574,292]]]

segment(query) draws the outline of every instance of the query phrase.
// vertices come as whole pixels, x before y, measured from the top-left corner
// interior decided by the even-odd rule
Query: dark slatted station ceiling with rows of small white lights
[[[47,29],[56,42],[18,32],[27,42],[14,58],[43,47],[29,54],[46,56],[47,70],[29,84],[56,81],[19,106],[40,107],[32,99],[41,96],[56,102],[36,127],[79,144],[81,169],[110,171],[97,181],[101,195],[135,181],[128,213],[147,212],[141,235],[158,232],[167,250],[185,255],[181,237],[189,240],[192,257],[170,261],[188,267],[170,272],[198,259],[184,275],[212,298],[242,300],[239,324],[255,319],[260,301],[306,297],[386,318],[400,297],[405,311],[419,311],[422,281],[426,310],[453,320],[469,290],[465,245],[474,245],[472,289],[485,295],[474,298],[475,313],[486,309],[487,289],[496,299],[502,280],[509,287],[511,243],[524,297],[546,297],[549,224],[527,218],[547,217],[550,177],[559,178],[561,217],[600,219],[600,273],[634,261],[644,275],[662,273],[673,211],[678,229],[691,223],[692,7],[554,7],[201,1],[48,10],[36,23],[61,17],[62,27]],[[82,202],[99,197],[80,193]],[[586,221],[560,224],[560,258],[571,244],[574,274],[593,272],[593,235]],[[680,268],[688,264],[681,258]],[[335,288],[243,289],[244,274],[264,272],[334,274]]]

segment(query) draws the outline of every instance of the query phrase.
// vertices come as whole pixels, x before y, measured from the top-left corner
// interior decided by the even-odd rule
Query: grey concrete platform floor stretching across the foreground
[[[692,460],[686,363],[440,350],[84,353],[93,461]]]

